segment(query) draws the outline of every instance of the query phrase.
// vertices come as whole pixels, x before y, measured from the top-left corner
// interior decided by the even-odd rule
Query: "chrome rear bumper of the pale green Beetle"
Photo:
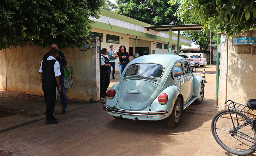
[[[117,113],[122,115],[131,115],[131,116],[165,116],[168,114],[168,110],[157,110],[157,111],[130,111],[125,109],[118,109],[113,107],[108,107],[103,105],[103,109],[107,112]]]

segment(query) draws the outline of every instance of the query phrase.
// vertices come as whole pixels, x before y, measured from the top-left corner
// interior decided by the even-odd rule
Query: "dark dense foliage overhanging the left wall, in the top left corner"
[[[60,49],[90,44],[89,31],[103,0],[2,0],[0,49],[30,43]]]

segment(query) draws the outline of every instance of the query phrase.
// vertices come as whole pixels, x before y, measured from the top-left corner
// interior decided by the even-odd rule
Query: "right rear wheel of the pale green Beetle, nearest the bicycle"
[[[182,111],[182,102],[178,97],[174,103],[171,115],[167,118],[167,124],[169,127],[177,127],[180,123],[180,115]]]

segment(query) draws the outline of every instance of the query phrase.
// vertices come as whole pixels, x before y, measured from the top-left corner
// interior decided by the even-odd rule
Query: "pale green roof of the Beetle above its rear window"
[[[184,60],[184,58],[173,54],[150,54],[137,57],[132,61],[132,63],[156,63],[167,67],[170,64],[174,64],[178,60]]]

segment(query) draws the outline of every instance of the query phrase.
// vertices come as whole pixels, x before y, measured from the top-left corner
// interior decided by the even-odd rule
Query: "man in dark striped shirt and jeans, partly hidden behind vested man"
[[[55,48],[57,49],[57,43],[51,43],[50,44],[50,49],[51,48]],[[46,53],[43,57],[43,60],[45,58],[49,57],[49,52]],[[67,107],[68,107],[68,100],[67,100],[67,96],[66,96],[66,92],[65,92],[65,87],[64,87],[64,68],[68,73],[68,78],[71,79],[71,74],[69,71],[69,66],[67,64],[67,61],[65,59],[64,54],[58,50],[58,56],[56,58],[57,61],[59,61],[59,65],[60,65],[60,72],[61,72],[61,76],[60,76],[60,85],[61,85],[61,92],[59,93],[60,95],[60,102],[61,102],[61,106],[62,106],[62,114],[66,114],[67,112]],[[64,67],[64,68],[63,68]]]

